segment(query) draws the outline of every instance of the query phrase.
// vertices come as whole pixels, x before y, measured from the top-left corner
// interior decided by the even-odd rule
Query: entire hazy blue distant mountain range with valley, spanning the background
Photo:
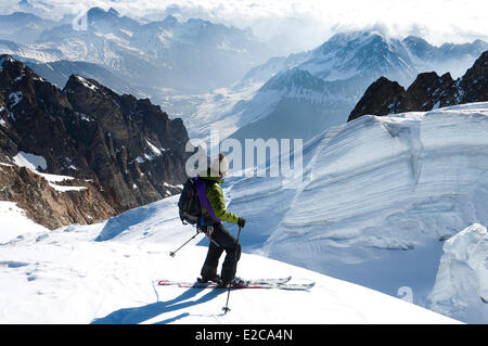
[[[17,17],[23,18],[22,13],[5,16],[12,24]],[[33,35],[35,43],[12,42],[12,34],[4,35],[11,40],[0,41],[0,47],[60,88],[68,76],[79,74],[119,93],[151,98],[182,117],[195,140],[218,128],[221,137],[239,140],[307,141],[347,121],[377,78],[410,85],[427,71],[457,77],[488,49],[483,40],[436,47],[420,37],[400,40],[377,31],[351,31],[336,34],[310,51],[266,62],[271,51],[249,30],[202,20],[181,23],[172,16],[140,23],[100,8],[90,9],[86,18],[87,30],[49,23]]]

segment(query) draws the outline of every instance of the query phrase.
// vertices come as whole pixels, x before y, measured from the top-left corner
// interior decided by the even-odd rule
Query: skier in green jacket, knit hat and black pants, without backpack
[[[237,225],[240,228],[244,228],[246,220],[242,217],[237,217],[227,210],[226,202],[223,200],[223,192],[220,184],[223,182],[223,177],[229,169],[229,162],[227,157],[220,153],[216,157],[210,167],[206,171],[198,174],[198,178],[206,184],[205,195],[208,198],[207,202],[201,201],[202,212],[205,219],[205,226],[202,227],[202,231],[210,241],[208,245],[207,257],[202,267],[200,282],[217,282],[219,286],[226,287],[231,284],[235,277],[237,261],[241,257],[241,245],[237,243],[234,236],[222,226],[221,221]],[[204,203],[202,203],[204,202]],[[207,210],[204,206],[209,206]],[[220,275],[217,274],[217,267],[220,256],[226,251],[226,258],[222,264],[222,270]]]

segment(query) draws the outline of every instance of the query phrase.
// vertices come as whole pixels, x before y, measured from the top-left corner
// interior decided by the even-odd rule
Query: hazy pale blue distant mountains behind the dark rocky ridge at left
[[[198,18],[179,22],[168,16],[143,24],[114,9],[92,8],[86,20],[86,29],[72,23],[46,28],[28,49],[11,48],[3,53],[37,62],[95,63],[133,86],[160,92],[165,88],[202,92],[222,87],[270,56],[251,31]],[[15,42],[15,35],[9,40]]]

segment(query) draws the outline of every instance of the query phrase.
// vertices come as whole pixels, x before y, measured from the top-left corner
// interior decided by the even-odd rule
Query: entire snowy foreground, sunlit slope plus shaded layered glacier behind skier
[[[205,257],[205,247],[187,245],[169,258],[192,235],[178,219],[174,196],[101,225],[9,235],[0,245],[0,321],[451,321],[391,297],[407,293],[418,305],[439,303],[442,313],[473,322],[455,297],[473,292],[462,291],[463,282],[473,283],[463,280],[472,279],[470,266],[477,266],[476,278],[486,277],[479,267],[485,243],[468,235],[462,240],[473,242],[462,242],[475,246],[458,246],[457,238],[442,246],[475,222],[488,225],[487,133],[488,102],[363,116],[304,146],[301,180],[229,177],[229,209],[247,219],[237,274],[293,274],[317,282],[310,293],[239,291],[231,296],[232,313],[222,316],[218,292],[154,287],[162,278],[194,280]],[[445,280],[459,268],[459,281]],[[444,287],[449,294],[438,295]],[[477,302],[483,294],[476,293]],[[476,309],[474,322],[486,322]]]

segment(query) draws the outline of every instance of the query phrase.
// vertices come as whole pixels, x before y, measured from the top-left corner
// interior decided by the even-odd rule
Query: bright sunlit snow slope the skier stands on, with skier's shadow
[[[94,226],[11,234],[0,244],[0,323],[457,323],[378,292],[303,268],[243,254],[237,274],[316,281],[310,292],[156,286],[191,281],[206,248],[177,215],[177,196]],[[5,219],[2,219],[2,223]],[[16,221],[15,221],[16,222]],[[201,236],[201,235],[200,235]]]

